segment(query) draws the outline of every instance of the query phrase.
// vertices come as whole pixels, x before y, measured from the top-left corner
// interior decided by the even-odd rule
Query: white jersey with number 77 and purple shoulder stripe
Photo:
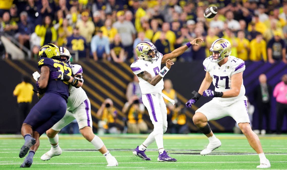
[[[245,70],[245,62],[234,56],[228,56],[227,62],[219,66],[216,62],[211,62],[209,58],[205,58],[203,61],[203,67],[205,71],[208,71],[210,76],[213,78],[213,85],[215,91],[224,92],[231,89],[231,77],[236,73],[241,73]],[[228,106],[238,100],[247,100],[245,97],[245,87],[243,81],[241,84],[240,93],[236,97],[222,98],[214,97],[215,100],[219,101],[222,106]]]

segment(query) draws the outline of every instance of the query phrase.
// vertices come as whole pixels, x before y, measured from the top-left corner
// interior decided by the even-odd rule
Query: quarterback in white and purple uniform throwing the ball
[[[167,110],[162,97],[168,99],[174,104],[174,101],[162,93],[163,80],[162,78],[169,71],[171,65],[174,63],[171,59],[180,56],[191,45],[198,45],[196,42],[203,42],[202,38],[195,38],[193,41],[188,42],[186,45],[173,50],[169,54],[162,55],[156,50],[154,44],[148,41],[142,41],[136,46],[136,52],[139,60],[131,64],[131,70],[139,79],[139,86],[142,93],[142,101],[148,113],[150,120],[154,125],[154,131],[150,133],[148,138],[133,150],[133,155],[140,157],[143,160],[150,161],[151,159],[146,156],[146,148],[156,141],[158,146],[159,155],[158,161],[177,161],[168,156],[163,147],[163,134],[167,129]],[[161,64],[166,63],[162,69]]]

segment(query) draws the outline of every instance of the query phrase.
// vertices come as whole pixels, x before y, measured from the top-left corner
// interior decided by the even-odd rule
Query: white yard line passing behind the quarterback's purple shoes
[[[192,156],[202,156],[202,155],[188,155],[188,154],[170,154],[170,155],[173,155],[173,156],[177,156],[177,157],[192,157]],[[257,154],[218,154],[218,155],[215,155],[215,154],[210,154],[210,155],[207,155],[207,156],[242,156],[242,155],[256,155]],[[287,155],[287,154],[266,154],[265,155]],[[62,157],[62,156],[59,156],[59,157],[54,157],[54,158],[86,158],[86,157],[91,157],[91,158],[97,158],[97,157],[100,157],[100,158],[103,158],[103,156],[69,156],[69,157]],[[114,156],[114,157],[136,157],[136,156],[131,156],[131,155],[128,155],[128,156]],[[158,155],[149,155],[149,157],[158,157]],[[19,157],[0,157],[1,158],[19,158]],[[34,157],[34,158],[40,158],[40,157]],[[3,162],[3,161],[2,161]]]

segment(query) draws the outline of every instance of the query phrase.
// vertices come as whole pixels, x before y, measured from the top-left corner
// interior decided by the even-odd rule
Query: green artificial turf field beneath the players
[[[202,134],[164,134],[164,148],[170,157],[178,161],[158,162],[154,142],[147,151],[152,161],[143,161],[132,155],[148,135],[104,135],[104,144],[119,162],[118,167],[106,167],[106,159],[81,135],[59,135],[63,153],[49,161],[40,157],[51,148],[46,135],[40,138],[40,147],[30,169],[256,169],[259,157],[249,146],[244,135],[216,134],[222,146],[210,155],[201,156],[200,151],[208,144]],[[271,169],[287,169],[287,135],[259,136],[263,151],[271,163]],[[0,135],[0,169],[19,169],[24,158],[19,151],[24,143],[20,135]]]

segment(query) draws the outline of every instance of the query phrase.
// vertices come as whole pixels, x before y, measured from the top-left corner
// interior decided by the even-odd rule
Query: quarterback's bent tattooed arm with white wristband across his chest
[[[152,77],[150,73],[147,71],[143,71],[139,74],[137,74],[138,77],[141,77],[151,85],[155,86],[160,80],[164,77],[164,75],[169,71],[171,65],[174,65],[174,63],[168,59],[166,60],[166,66],[158,73],[158,75]]]

